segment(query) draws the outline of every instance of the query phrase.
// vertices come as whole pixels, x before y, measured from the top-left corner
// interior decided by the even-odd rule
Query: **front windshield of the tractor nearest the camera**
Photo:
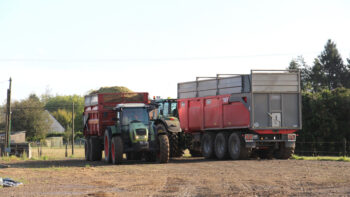
[[[147,109],[141,107],[124,108],[122,124],[129,125],[132,122],[142,122],[147,125],[149,122]]]

